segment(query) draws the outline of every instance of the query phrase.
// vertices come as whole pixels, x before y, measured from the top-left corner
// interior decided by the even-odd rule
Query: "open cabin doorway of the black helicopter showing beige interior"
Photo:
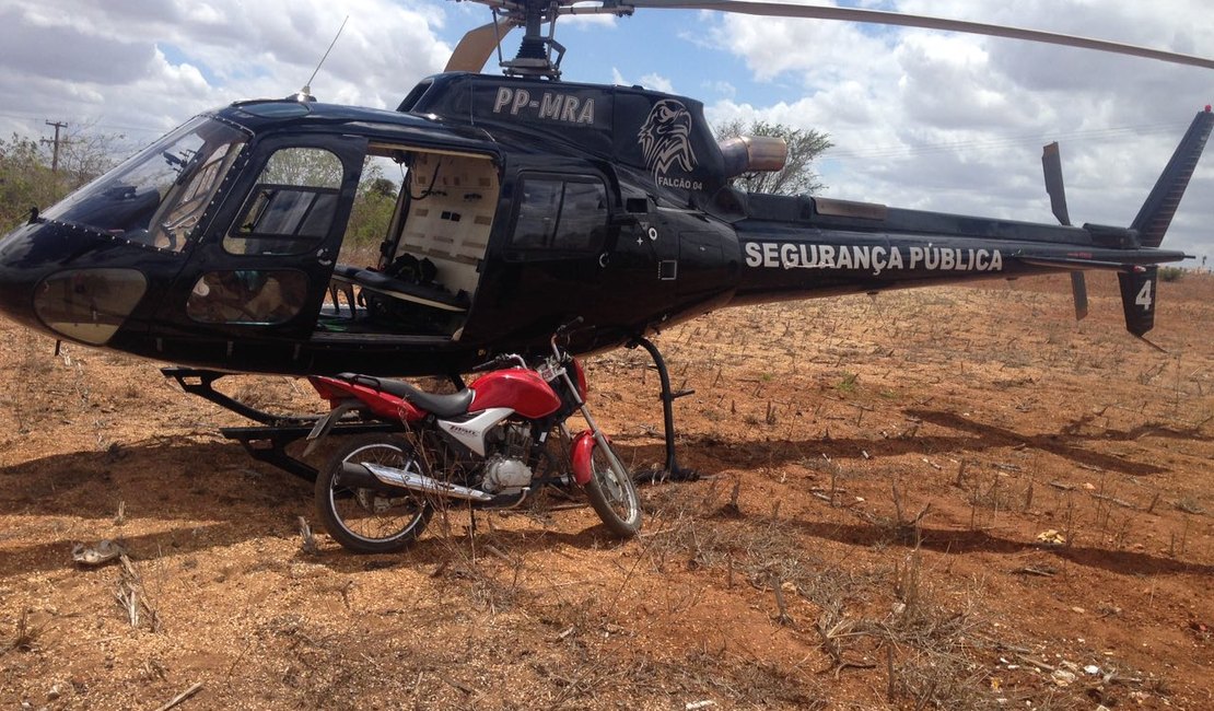
[[[458,341],[499,189],[487,155],[370,142],[313,337]]]

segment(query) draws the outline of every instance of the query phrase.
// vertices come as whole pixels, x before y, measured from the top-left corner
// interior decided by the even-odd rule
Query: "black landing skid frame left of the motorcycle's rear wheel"
[[[217,370],[204,370],[195,368],[161,368],[160,372],[165,377],[177,381],[181,389],[192,396],[198,396],[204,400],[215,403],[225,410],[231,410],[237,415],[260,422],[259,427],[220,427],[220,434],[227,439],[234,439],[244,446],[249,456],[257,461],[273,465],[284,472],[314,482],[317,470],[312,465],[288,454],[287,448],[312,432],[317,417],[293,417],[274,415],[251,408],[236,400],[217,389],[215,381],[231,372]],[[367,432],[392,432],[399,430],[391,422],[339,422],[334,425],[330,434],[363,434]]]

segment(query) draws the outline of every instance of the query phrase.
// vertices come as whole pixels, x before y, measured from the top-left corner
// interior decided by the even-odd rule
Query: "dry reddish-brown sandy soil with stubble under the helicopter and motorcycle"
[[[705,478],[645,487],[641,537],[452,511],[378,557],[305,551],[311,485],[158,364],[2,322],[0,709],[1214,707],[1214,278],[1161,284],[1167,353],[1091,280],[1079,324],[1061,278],[673,329]],[[660,460],[643,353],[589,371]],[[73,563],[103,539],[130,564]]]

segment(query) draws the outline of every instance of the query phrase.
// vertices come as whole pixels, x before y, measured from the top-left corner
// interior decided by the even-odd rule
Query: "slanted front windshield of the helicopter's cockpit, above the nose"
[[[233,126],[198,116],[42,216],[180,251],[245,140]]]

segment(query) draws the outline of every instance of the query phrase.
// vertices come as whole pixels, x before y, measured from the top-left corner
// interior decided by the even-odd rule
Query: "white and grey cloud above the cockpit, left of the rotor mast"
[[[322,99],[392,107],[450,53],[436,34],[442,11],[424,4],[17,0],[0,11],[0,130],[87,118],[151,135],[214,106],[285,96],[346,15],[312,83]]]

